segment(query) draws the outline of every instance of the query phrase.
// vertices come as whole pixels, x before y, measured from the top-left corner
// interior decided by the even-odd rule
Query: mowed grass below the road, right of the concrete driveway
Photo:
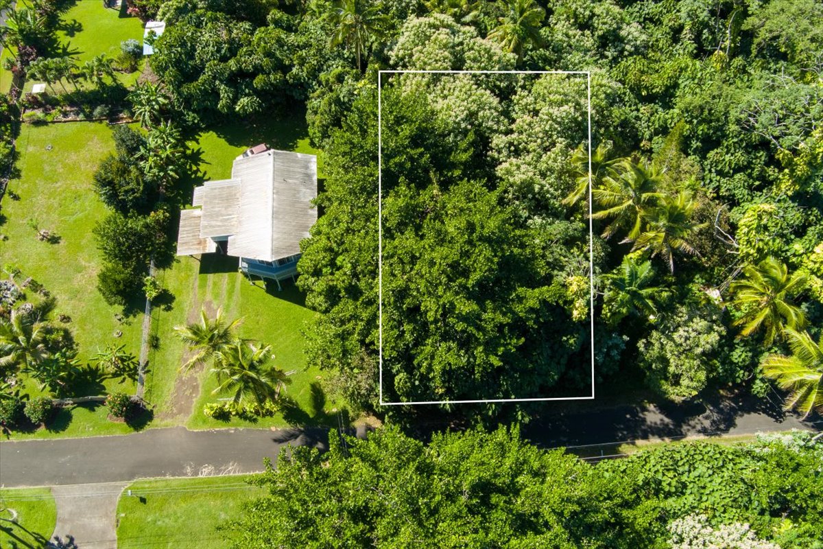
[[[266,494],[246,477],[200,477],[134,482],[117,505],[119,549],[223,549],[216,532],[237,519],[243,504]],[[128,490],[133,495],[128,495]],[[143,499],[141,499],[143,498]]]

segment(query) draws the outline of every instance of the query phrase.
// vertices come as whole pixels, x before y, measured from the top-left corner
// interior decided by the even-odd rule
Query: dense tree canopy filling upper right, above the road
[[[599,379],[675,399],[763,391],[783,328],[820,335],[819,2],[141,3],[186,120],[305,101],[327,176],[299,264],[309,356],[357,406],[378,392],[379,224],[391,399],[585,392],[589,314]],[[591,96],[585,75],[384,73],[378,219],[384,69],[586,71]],[[773,260],[791,287],[760,319]]]

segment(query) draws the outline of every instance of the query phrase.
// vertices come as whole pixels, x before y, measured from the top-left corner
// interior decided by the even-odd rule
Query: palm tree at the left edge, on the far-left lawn
[[[32,315],[12,310],[9,319],[0,319],[0,368],[17,366],[31,370],[48,356],[46,324]]]

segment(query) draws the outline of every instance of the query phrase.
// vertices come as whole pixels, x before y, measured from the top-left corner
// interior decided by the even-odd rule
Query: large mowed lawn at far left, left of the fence
[[[5,223],[0,232],[0,264],[21,269],[22,281],[33,277],[57,299],[52,318],[67,314],[65,324],[77,342],[78,358],[89,361],[106,345],[126,346],[139,354],[142,315],[119,322],[119,308],[105,303],[96,289],[100,254],[92,230],[107,214],[92,188],[98,163],[114,147],[111,130],[105,123],[63,123],[45,126],[24,125],[18,139],[20,177],[9,188],[19,200],[3,200]],[[37,240],[30,226],[52,230],[58,244]],[[59,323],[58,323],[59,324]],[[115,334],[122,332],[120,337]],[[28,384],[31,386],[31,384]],[[99,394],[110,390],[133,392],[131,381],[109,379],[103,386],[84,388]],[[33,391],[35,392],[35,391]],[[105,407],[63,409],[47,430],[15,433],[13,438],[78,436],[128,432],[128,426],[106,419]]]

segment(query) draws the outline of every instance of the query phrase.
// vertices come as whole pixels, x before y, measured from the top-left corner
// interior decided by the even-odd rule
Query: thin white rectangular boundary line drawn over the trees
[[[555,398],[487,398],[477,400],[432,400],[417,402],[384,402],[383,400],[383,116],[380,93],[384,74],[579,74],[586,75],[586,110],[588,112],[588,289],[589,329],[591,335],[592,396]],[[589,71],[378,71],[377,72],[377,227],[378,227],[378,338],[379,338],[379,401],[381,406],[411,406],[416,404],[486,404],[491,402],[541,402],[556,400],[593,400],[594,398],[594,237],[592,228],[592,73]]]

